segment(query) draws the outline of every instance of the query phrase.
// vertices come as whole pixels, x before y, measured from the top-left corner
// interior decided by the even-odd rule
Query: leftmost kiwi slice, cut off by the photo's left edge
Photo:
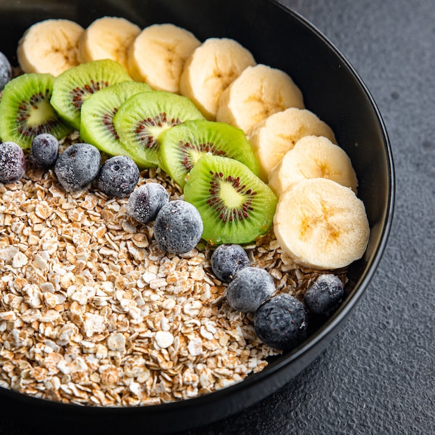
[[[33,138],[51,133],[61,139],[72,131],[51,106],[54,76],[22,74],[3,89],[0,100],[0,138],[30,148]]]

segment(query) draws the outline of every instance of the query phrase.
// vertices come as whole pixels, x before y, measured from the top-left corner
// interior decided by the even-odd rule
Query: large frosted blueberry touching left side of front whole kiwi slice
[[[161,249],[184,254],[201,240],[203,229],[197,208],[177,199],[165,204],[158,212],[154,222],[154,238]]]

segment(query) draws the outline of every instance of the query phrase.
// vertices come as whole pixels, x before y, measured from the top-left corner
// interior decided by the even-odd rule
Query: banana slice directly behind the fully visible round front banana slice
[[[293,183],[304,179],[326,178],[356,193],[356,174],[344,149],[324,136],[305,136],[298,140],[269,174],[269,187],[277,196]]]

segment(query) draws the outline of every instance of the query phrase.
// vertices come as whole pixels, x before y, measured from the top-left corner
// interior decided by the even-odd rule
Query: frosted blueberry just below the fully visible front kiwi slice
[[[211,268],[218,279],[229,282],[249,266],[249,258],[240,245],[220,245],[211,254]]]

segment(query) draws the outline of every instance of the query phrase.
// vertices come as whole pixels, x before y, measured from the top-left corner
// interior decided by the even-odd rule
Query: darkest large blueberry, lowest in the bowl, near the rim
[[[308,316],[304,304],[283,293],[271,297],[254,314],[254,329],[263,343],[290,350],[306,337]]]

